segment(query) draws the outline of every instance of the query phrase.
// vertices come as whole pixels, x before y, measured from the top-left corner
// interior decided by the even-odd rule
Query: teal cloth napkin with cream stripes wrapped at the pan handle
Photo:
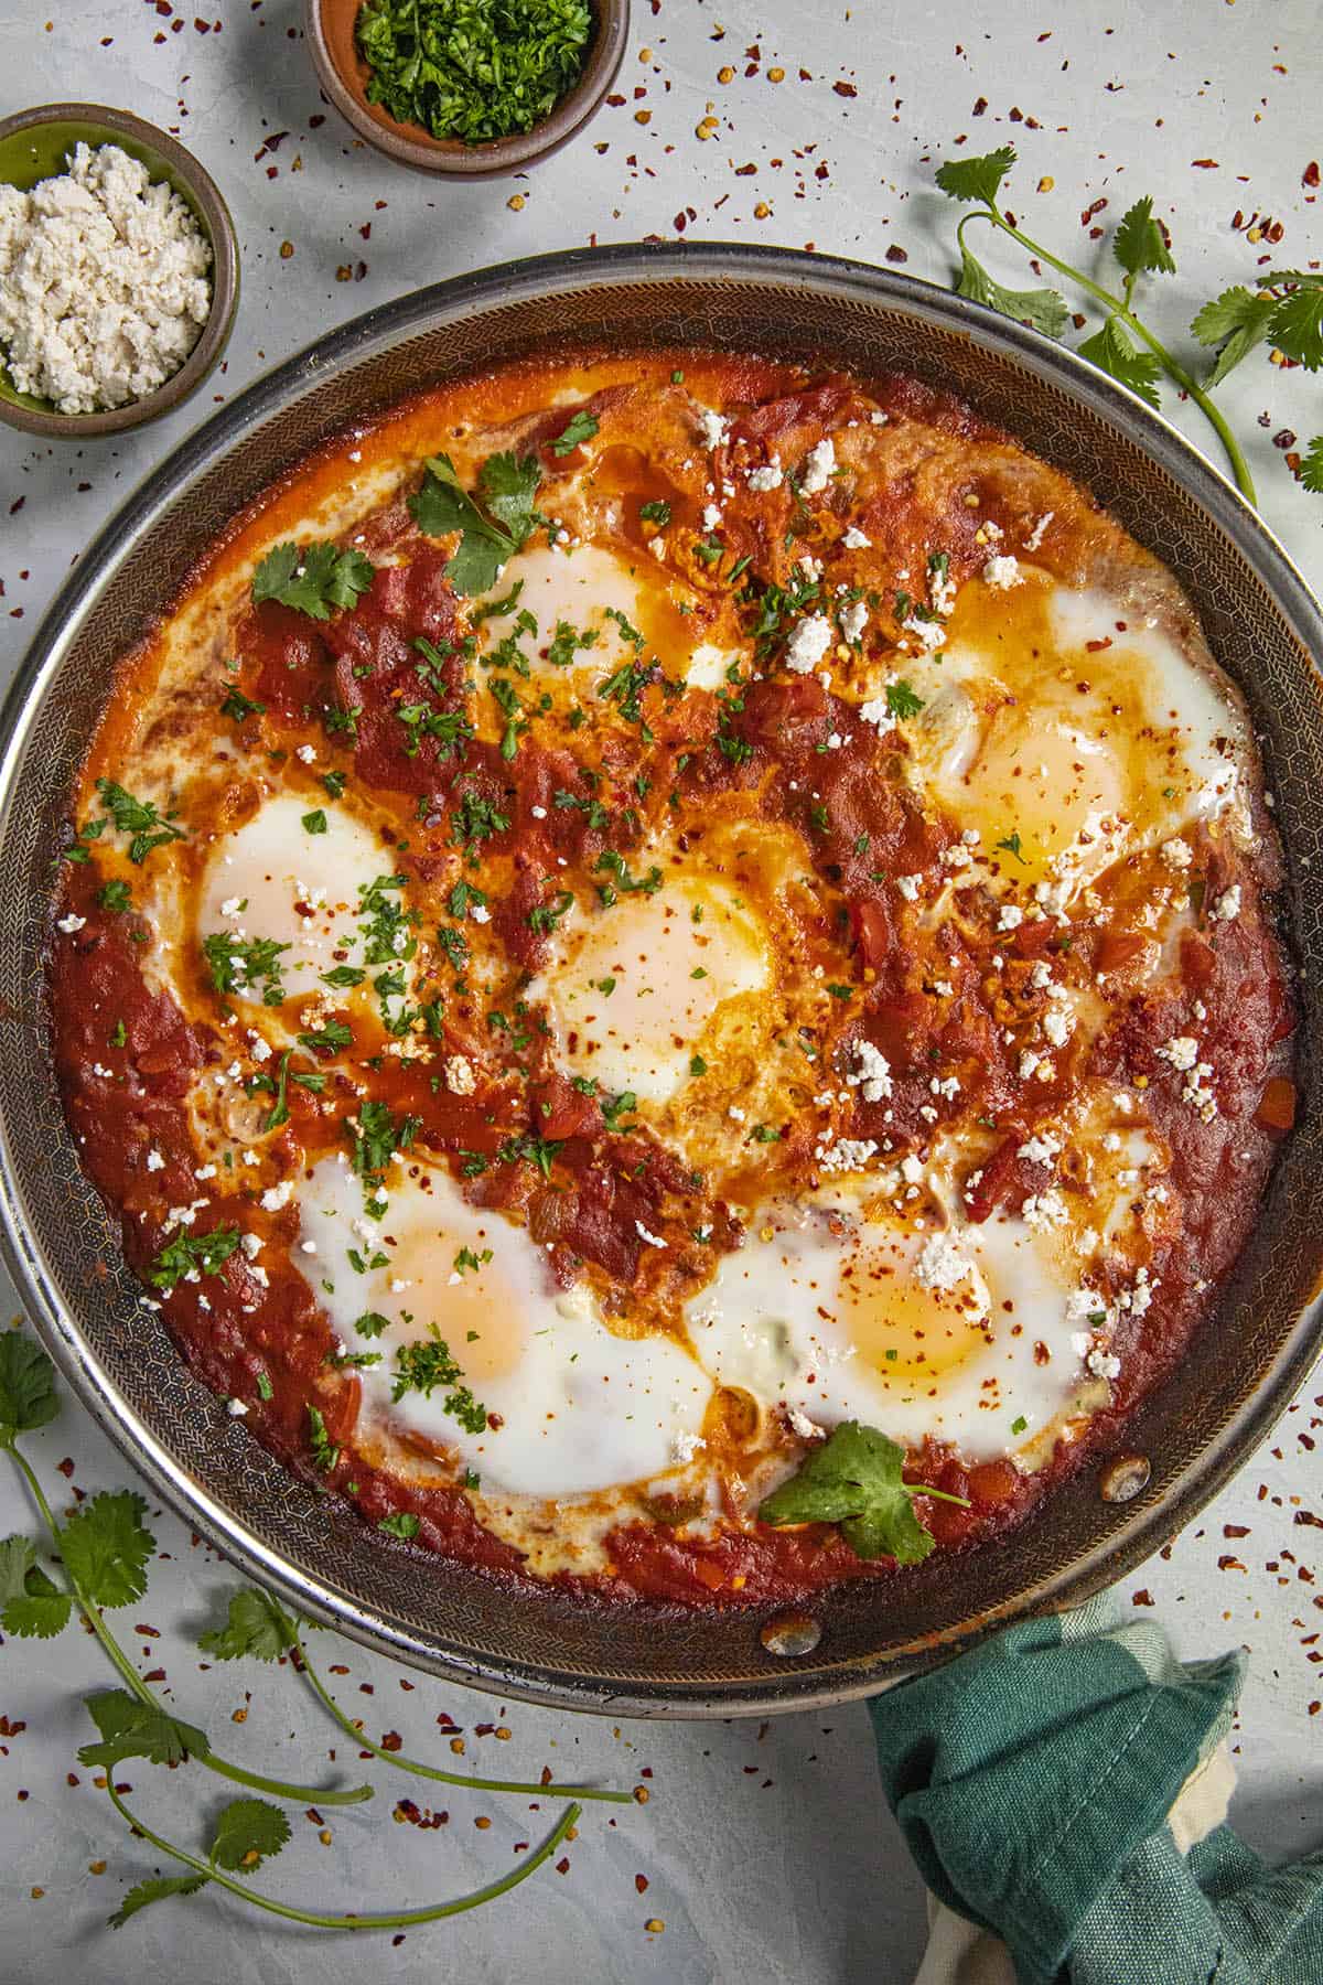
[[[928,1888],[1022,1985],[1323,1985],[1323,1852],[1267,1868],[1166,1814],[1232,1723],[1242,1657],[1176,1661],[1107,1600],[1010,1628],[873,1697],[891,1808]]]

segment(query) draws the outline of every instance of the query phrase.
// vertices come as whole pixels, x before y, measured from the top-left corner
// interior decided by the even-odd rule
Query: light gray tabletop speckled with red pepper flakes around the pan
[[[50,28],[46,10],[58,16]],[[296,0],[180,0],[175,14],[159,0],[0,0],[0,113],[81,97],[179,131],[230,200],[244,266],[226,371],[171,421],[83,449],[48,449],[0,429],[6,677],[103,518],[214,401],[329,326],[440,276],[589,240],[672,238],[682,222],[690,238],[873,260],[902,250],[908,274],[946,282],[954,210],[934,197],[930,171],[960,135],[970,151],[1020,145],[1012,206],[1075,258],[1097,254],[1081,224],[1093,200],[1109,200],[1093,222],[1103,224],[1152,191],[1180,264],[1152,310],[1178,345],[1196,302],[1244,280],[1256,260],[1271,254],[1281,266],[1323,252],[1323,204],[1303,185],[1323,153],[1311,0],[1115,0],[1107,12],[1018,0],[930,10],[895,0],[635,0],[625,101],[532,177],[462,191],[389,165],[319,103]],[[200,32],[198,22],[214,26]],[[718,81],[722,64],[736,71],[728,85]],[[752,64],[758,73],[746,75]],[[782,81],[770,79],[774,66]],[[976,99],[986,99],[982,115]],[[708,113],[720,127],[698,141]],[[254,159],[278,131],[288,133],[278,149]],[[1039,181],[1055,185],[1035,191]],[[1234,226],[1238,210],[1279,220],[1281,244],[1252,242]],[[294,246],[284,258],[282,242]],[[339,268],[349,280],[337,280]],[[1006,262],[1002,274],[1020,284],[1023,270]],[[1293,486],[1273,437],[1323,427],[1319,381],[1260,355],[1224,401],[1250,437],[1263,514],[1317,586],[1323,504]],[[1198,415],[1174,415],[1208,443]],[[1299,1852],[1323,1830],[1323,1554],[1319,1528],[1299,1521],[1323,1499],[1321,1390],[1315,1374],[1226,1495],[1119,1592],[1125,1610],[1152,1602],[1188,1654],[1250,1648],[1236,1818],[1271,1856]],[[36,1447],[61,1499],[54,1467],[65,1457],[85,1491],[131,1481],[71,1405]],[[173,1517],[153,1524],[163,1558],[149,1598],[117,1616],[129,1644],[147,1667],[167,1671],[180,1711],[236,1757],[305,1779],[329,1771],[337,1731],[294,1675],[256,1665],[198,1673],[190,1634],[232,1580]],[[30,1526],[30,1511],[0,1463],[0,1534],[16,1526]],[[161,1638],[135,1638],[139,1622]],[[551,1763],[557,1773],[647,1783],[651,1802],[587,1810],[567,1874],[541,1870],[512,1900],[413,1931],[399,1947],[385,1937],[313,1939],[208,1896],[165,1904],[111,1933],[105,1916],[127,1882],[151,1872],[153,1854],[123,1834],[87,1773],[67,1777],[87,1737],[79,1695],[109,1673],[77,1630],[48,1646],[10,1644],[0,1652],[0,1713],[8,1727],[0,1727],[0,1973],[12,1985],[69,1975],[95,1985],[357,1985],[365,1973],[399,1985],[436,1975],[466,1985],[526,1975],[541,1985],[891,1985],[912,1975],[922,1892],[879,1796],[863,1707],[764,1727],[611,1727],[518,1705],[506,1713],[349,1646],[339,1655],[349,1673],[337,1687],[377,1735],[397,1729],[407,1749],[450,1763],[434,1723],[448,1711],[488,1771],[536,1775]],[[232,1725],[240,1709],[246,1721]],[[514,1731],[510,1743],[472,1737],[474,1723],[496,1721]],[[643,1769],[653,1777],[641,1779]],[[218,1781],[196,1767],[129,1767],[125,1777],[145,1814],[179,1838],[200,1838]],[[327,1908],[440,1898],[508,1868],[514,1840],[545,1824],[545,1812],[528,1814],[520,1800],[456,1792],[444,1800],[446,1828],[395,1826],[393,1800],[422,1802],[426,1790],[385,1767],[369,1777],[379,1786],[373,1806],[333,1818],[329,1846],[294,1814],[296,1842],[270,1872],[274,1892]],[[474,1818],[486,1814],[492,1826],[478,1830]],[[105,1872],[93,1872],[103,1860]],[[645,1931],[651,1918],[664,1933]]]

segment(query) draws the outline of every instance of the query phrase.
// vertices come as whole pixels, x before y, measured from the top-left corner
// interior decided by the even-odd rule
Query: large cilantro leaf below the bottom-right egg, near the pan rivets
[[[839,1522],[841,1536],[859,1558],[895,1558],[920,1564],[932,1536],[914,1515],[910,1491],[901,1481],[904,1449],[877,1427],[843,1419],[797,1475],[762,1503],[762,1522]]]

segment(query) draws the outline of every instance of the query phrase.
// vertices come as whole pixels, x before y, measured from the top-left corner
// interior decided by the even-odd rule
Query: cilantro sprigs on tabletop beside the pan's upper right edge
[[[1254,276],[1250,286],[1224,290],[1204,304],[1190,330],[1202,345],[1216,351],[1216,359],[1208,377],[1198,381],[1135,314],[1135,290],[1141,278],[1176,272],[1170,238],[1152,212],[1152,198],[1144,195],[1135,200],[1113,234],[1113,256],[1121,268],[1121,294],[1117,294],[1051,254],[998,206],[1002,181],[1014,165],[1016,147],[1002,145],[980,159],[948,159],[938,167],[936,183],[942,193],[952,200],[974,202],[974,212],[964,214],[956,228],[958,294],[1029,324],[1049,337],[1059,337],[1067,326],[1067,304],[1059,290],[1006,290],[984,268],[966,240],[966,230],[974,220],[986,220],[994,232],[1008,234],[1035,262],[1045,262],[1103,308],[1103,324],[1077,347],[1079,355],[1139,393],[1150,407],[1160,405],[1162,377],[1170,379],[1212,425],[1242,494],[1258,502],[1250,464],[1210,393],[1260,343],[1271,343],[1305,371],[1323,367],[1323,274],[1265,270]],[[1323,492],[1323,435],[1309,443],[1299,476],[1305,488]]]

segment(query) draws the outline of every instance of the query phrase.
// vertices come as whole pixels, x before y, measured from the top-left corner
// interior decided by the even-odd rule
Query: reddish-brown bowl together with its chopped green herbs
[[[422,173],[498,179],[559,151],[615,81],[629,0],[305,0],[325,95]]]

